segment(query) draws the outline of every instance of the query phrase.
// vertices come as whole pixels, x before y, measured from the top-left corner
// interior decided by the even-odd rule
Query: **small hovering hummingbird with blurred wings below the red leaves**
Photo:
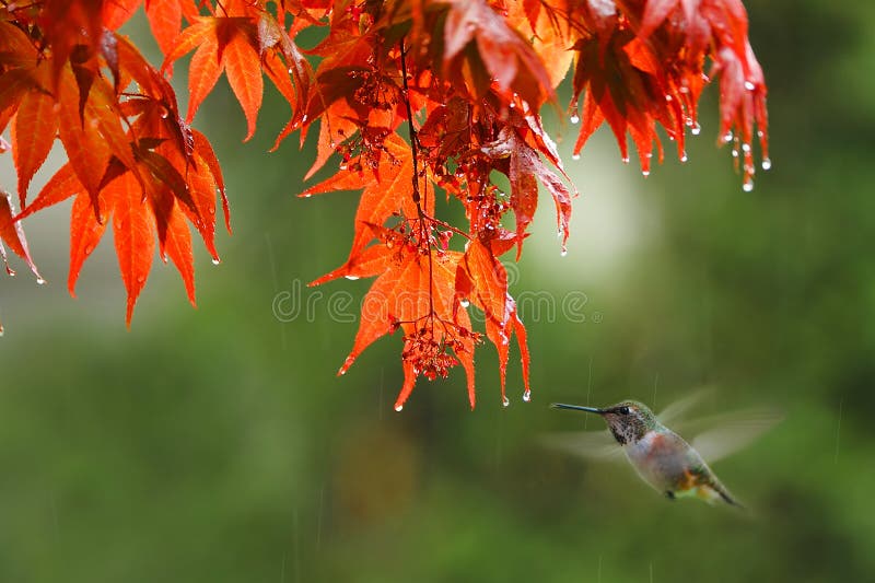
[[[668,499],[697,497],[709,503],[723,500],[740,508],[742,504],[718,479],[705,458],[713,462],[752,441],[771,427],[778,416],[735,416],[732,421],[724,421],[722,427],[697,436],[693,445],[690,445],[665,427],[664,421],[687,409],[698,400],[698,396],[695,397],[669,406],[660,417],[634,400],[623,400],[604,409],[561,403],[551,406],[600,415],[639,476]],[[606,440],[600,441],[602,438]],[[618,450],[609,443],[609,436],[604,432],[552,435],[546,442],[586,457],[605,457]]]

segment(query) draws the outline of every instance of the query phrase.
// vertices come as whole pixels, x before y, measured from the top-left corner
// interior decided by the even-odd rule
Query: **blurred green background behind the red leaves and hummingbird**
[[[265,153],[276,93],[252,143],[224,80],[197,120],[235,229],[220,266],[198,249],[197,310],[156,265],[126,330],[110,241],[72,300],[69,207],[31,220],[49,284],[21,264],[0,280],[0,582],[875,580],[875,5],[746,3],[774,162],[752,193],[714,145],[715,88],[690,162],[648,179],[606,131],[572,162],[576,128],[555,128],[582,196],[568,256],[544,199],[511,268],[532,300],[528,404],[514,352],[501,406],[488,347],[474,412],[459,371],[396,413],[397,336],[335,376],[369,282],[300,284],[346,258],[357,197],[294,196],[313,143]],[[280,322],[295,290],[312,311]],[[585,296],[584,320],[534,292]],[[752,517],[537,445],[583,425],[550,401],[658,409],[703,385],[704,413],[785,413],[715,465]]]

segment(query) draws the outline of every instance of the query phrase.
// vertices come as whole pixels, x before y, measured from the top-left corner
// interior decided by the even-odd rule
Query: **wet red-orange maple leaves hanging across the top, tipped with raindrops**
[[[301,196],[361,190],[347,260],[313,284],[375,278],[339,373],[399,333],[398,410],[419,376],[444,377],[456,365],[474,407],[474,354],[483,339],[498,351],[506,405],[514,336],[528,400],[526,331],[499,258],[520,257],[540,188],[555,203],[563,247],[569,236],[576,193],[540,118],[544,106],[558,109],[556,88],[569,74],[575,158],[607,124],[625,160],[631,136],[645,174],[654,144],[663,158],[657,125],[686,160],[686,133],[699,132],[699,96],[718,79],[720,141],[733,143],[745,189],[755,128],[762,165],[770,164],[766,84],[739,0],[145,0],[160,67],[117,32],[141,4],[0,2],[0,132],[10,128],[0,145],[12,150],[22,207],[15,214],[11,197],[0,197],[0,237],[38,277],[21,220],[75,197],[71,293],[112,220],[128,323],[155,241],[194,303],[189,225],[218,260],[217,194],[230,223],[219,162],[190,125],[224,73],[249,139],[267,77],[291,107],[276,147],[294,132],[303,144],[317,124],[307,178],[339,160]],[[305,28],[322,40],[302,49],[295,38]],[[183,117],[170,78],[190,53]],[[30,197],[56,139],[68,162]],[[439,196],[463,206],[464,225],[435,214]],[[485,316],[482,331],[471,307]]]

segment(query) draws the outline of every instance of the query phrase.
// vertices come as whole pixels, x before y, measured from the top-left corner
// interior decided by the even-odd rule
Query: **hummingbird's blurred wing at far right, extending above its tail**
[[[749,445],[781,419],[783,415],[769,409],[750,409],[703,419],[701,427],[711,429],[696,435],[690,445],[705,462],[716,462]]]

